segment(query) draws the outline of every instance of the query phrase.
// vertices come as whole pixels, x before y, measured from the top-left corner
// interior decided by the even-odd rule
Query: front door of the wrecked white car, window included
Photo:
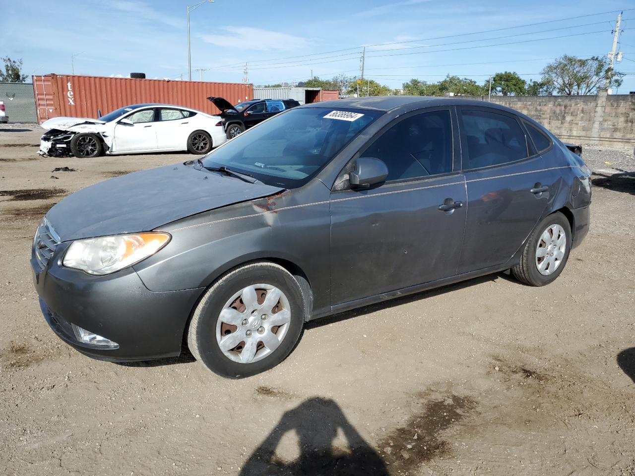
[[[114,150],[112,152],[142,152],[156,150],[157,135],[155,110],[142,109],[133,112],[124,119],[132,121],[132,124],[117,122],[115,126]]]

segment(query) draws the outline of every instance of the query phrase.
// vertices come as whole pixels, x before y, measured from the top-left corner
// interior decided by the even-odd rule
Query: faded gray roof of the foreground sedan
[[[326,108],[351,108],[371,109],[389,112],[392,110],[414,110],[424,107],[437,106],[479,106],[491,109],[506,110],[519,114],[518,111],[495,103],[474,99],[462,99],[457,96],[370,96],[362,98],[344,98],[324,102],[315,102],[301,105],[300,107],[326,107]]]

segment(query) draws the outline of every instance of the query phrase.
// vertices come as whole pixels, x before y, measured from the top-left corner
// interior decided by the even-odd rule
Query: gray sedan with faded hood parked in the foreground
[[[589,176],[540,124],[491,103],[304,105],[201,159],[65,198],[37,229],[34,282],[79,352],[187,345],[250,376],[311,319],[502,270],[549,284],[587,234]]]

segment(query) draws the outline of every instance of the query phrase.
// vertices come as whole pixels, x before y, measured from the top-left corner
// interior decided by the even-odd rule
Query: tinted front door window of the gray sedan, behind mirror
[[[449,110],[424,112],[399,121],[363,154],[385,162],[386,180],[452,171],[452,123]]]

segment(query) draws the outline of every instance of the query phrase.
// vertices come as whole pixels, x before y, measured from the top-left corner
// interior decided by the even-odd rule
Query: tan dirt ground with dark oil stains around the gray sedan
[[[42,159],[40,134],[0,129],[0,474],[635,475],[632,176],[597,177],[551,285],[495,274],[347,312],[224,380],[189,355],[91,360],[50,331],[29,265],[46,210],[190,156]]]

